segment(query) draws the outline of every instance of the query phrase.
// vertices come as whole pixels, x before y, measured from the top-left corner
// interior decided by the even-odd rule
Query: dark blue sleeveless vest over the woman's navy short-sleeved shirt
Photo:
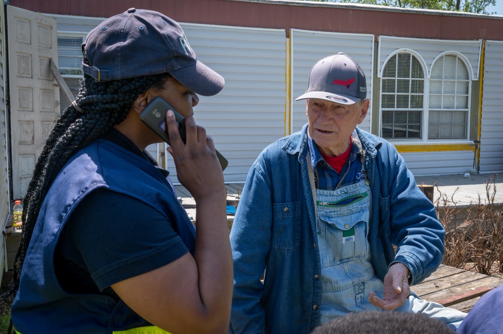
[[[150,325],[122,300],[105,294],[69,294],[57,282],[53,258],[59,235],[77,204],[99,187],[159,210],[193,254],[194,226],[162,173],[146,159],[97,140],[68,161],[42,202],[11,309],[18,332],[112,333]]]

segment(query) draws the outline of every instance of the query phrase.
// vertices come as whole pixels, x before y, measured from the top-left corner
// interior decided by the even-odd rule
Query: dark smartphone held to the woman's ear
[[[152,129],[159,137],[161,137],[168,145],[169,136],[166,129],[166,113],[168,110],[173,110],[175,114],[176,122],[178,124],[178,132],[180,133],[180,138],[185,144],[186,133],[185,133],[185,119],[180,115],[171,105],[168,104],[162,97],[158,96],[154,98],[140,114],[140,120],[147,124],[149,128]],[[217,157],[222,166],[222,170],[226,169],[228,165],[227,159],[217,150]]]

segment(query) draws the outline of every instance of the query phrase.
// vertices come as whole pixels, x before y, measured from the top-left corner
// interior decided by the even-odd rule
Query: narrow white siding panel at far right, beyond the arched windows
[[[503,171],[503,42],[486,41],[480,135],[480,172]]]

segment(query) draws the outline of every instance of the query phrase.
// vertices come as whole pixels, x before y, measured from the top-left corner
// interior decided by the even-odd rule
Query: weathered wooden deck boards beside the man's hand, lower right
[[[440,265],[436,272],[411,287],[419,297],[463,312],[471,310],[484,293],[503,284],[503,278]]]

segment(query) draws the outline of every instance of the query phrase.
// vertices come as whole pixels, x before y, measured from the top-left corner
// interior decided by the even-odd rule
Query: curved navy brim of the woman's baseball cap
[[[224,88],[224,78],[197,60],[194,64],[169,71],[185,87],[202,96],[218,94]]]

